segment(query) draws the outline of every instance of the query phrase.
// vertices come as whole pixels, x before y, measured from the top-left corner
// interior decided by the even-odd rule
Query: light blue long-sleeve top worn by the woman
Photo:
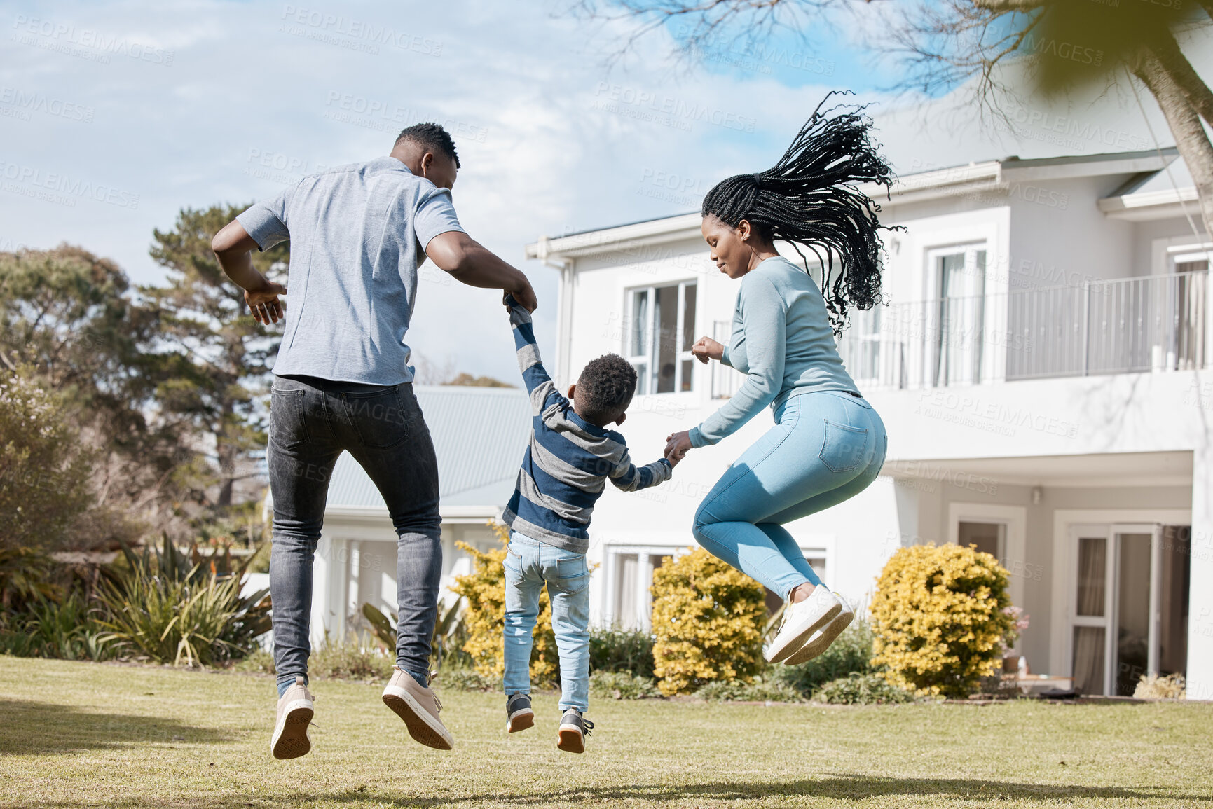
[[[763,408],[810,391],[858,393],[838,348],[816,283],[782,256],[741,278],[725,365],[746,375],[733,398],[690,431],[693,446],[716,444]]]

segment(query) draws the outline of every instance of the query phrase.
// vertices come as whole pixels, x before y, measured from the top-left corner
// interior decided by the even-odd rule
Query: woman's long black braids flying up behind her
[[[747,220],[769,240],[801,246],[821,262],[821,294],[836,335],[850,307],[871,309],[881,302],[883,246],[877,232],[881,206],[858,183],[892,187],[894,176],[871,139],[872,120],[864,107],[838,106],[822,112],[828,93],[801,127],[784,156],[767,171],[722,180],[704,198],[704,216],[731,228]],[[835,258],[838,272],[835,274]]]

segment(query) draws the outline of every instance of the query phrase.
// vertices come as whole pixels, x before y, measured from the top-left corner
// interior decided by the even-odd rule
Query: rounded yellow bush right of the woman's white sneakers
[[[916,545],[893,554],[871,604],[872,663],[894,685],[966,696],[1001,670],[1018,623],[1007,570],[958,545]]]

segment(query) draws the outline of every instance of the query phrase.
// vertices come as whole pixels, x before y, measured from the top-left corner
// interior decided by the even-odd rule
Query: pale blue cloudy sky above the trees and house
[[[524,244],[696,209],[717,180],[774,163],[828,90],[876,102],[879,138],[902,173],[1076,150],[1040,127],[1018,138],[981,130],[955,98],[883,96],[887,81],[858,44],[871,18],[842,18],[809,44],[781,35],[757,57],[721,47],[689,69],[671,67],[668,32],[657,32],[608,67],[621,29],[560,13],[568,5],[7,2],[0,250],[68,241],[158,283],[152,230],[181,207],[268,196],[323,166],[386,154],[403,126],[439,120],[463,161],[461,221],[533,278],[551,352],[556,278],[523,262]],[[1058,104],[1032,102],[1024,118],[1077,115],[1146,137],[1123,98]],[[496,297],[427,278],[437,280],[418,294],[415,352],[513,378]]]

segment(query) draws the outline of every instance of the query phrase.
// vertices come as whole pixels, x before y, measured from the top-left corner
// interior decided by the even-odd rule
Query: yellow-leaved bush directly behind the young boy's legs
[[[466,542],[457,546],[472,557],[472,572],[456,576],[451,592],[467,599],[463,622],[467,643],[463,651],[472,656],[475,671],[484,677],[501,678],[506,671],[506,545],[509,529],[496,523],[490,528],[501,540],[500,548],[482,553]],[[539,617],[535,621],[535,645],[531,646],[531,683],[548,685],[559,680],[560,660],[552,632],[552,603],[547,587],[539,594]]]

